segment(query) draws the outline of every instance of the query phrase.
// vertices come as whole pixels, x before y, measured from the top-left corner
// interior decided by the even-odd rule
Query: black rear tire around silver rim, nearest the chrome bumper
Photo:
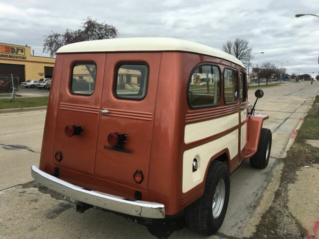
[[[215,219],[212,210],[213,199],[217,183],[221,179],[225,183],[225,197],[222,210]],[[184,210],[187,227],[204,235],[215,233],[224,221],[229,201],[229,192],[230,180],[227,166],[221,161],[212,161],[207,172],[204,195]]]

